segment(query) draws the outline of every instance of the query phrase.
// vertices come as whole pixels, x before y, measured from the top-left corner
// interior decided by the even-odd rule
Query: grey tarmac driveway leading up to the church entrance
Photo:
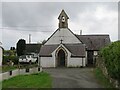
[[[92,68],[49,68],[43,71],[51,74],[53,88],[102,88]]]

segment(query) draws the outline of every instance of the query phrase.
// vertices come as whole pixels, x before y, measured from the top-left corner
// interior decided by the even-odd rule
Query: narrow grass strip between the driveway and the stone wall
[[[105,88],[114,88],[113,85],[110,84],[109,80],[104,76],[100,68],[95,68],[94,74],[98,82]]]

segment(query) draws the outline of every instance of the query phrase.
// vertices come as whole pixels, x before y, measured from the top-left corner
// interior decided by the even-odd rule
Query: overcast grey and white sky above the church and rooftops
[[[58,28],[62,9],[69,16],[69,28],[79,34],[109,34],[118,40],[117,2],[3,2],[2,42],[5,49],[31,34],[32,43],[47,39]],[[1,33],[0,33],[1,36]]]

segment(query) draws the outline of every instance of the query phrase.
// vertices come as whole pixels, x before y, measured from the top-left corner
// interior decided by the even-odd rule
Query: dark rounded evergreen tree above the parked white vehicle
[[[25,54],[25,48],[26,48],[26,41],[24,39],[19,39],[17,42],[16,50],[17,55],[21,56]]]

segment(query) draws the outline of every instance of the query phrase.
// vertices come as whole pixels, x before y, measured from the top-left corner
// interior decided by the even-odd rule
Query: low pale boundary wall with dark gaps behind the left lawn
[[[38,73],[41,71],[42,71],[42,67],[11,70],[8,72],[0,73],[0,81],[9,79],[9,78],[17,76],[17,75],[32,74],[32,73]]]

